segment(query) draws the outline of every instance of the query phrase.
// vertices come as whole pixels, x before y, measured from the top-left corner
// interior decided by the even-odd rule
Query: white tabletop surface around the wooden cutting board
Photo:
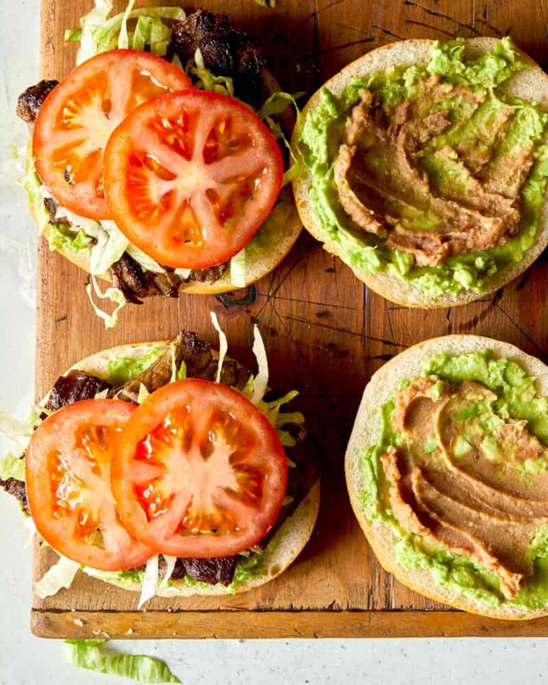
[[[17,174],[9,146],[25,143],[25,125],[15,117],[16,97],[38,80],[39,0],[0,0],[0,27],[0,408],[24,417],[33,395],[36,234],[23,191],[12,184]],[[129,682],[66,665],[61,643],[31,635],[30,599],[30,551],[23,547],[21,514],[12,498],[0,494],[0,684]],[[548,680],[546,640],[147,640],[112,645],[164,658],[186,685],[532,685]]]

